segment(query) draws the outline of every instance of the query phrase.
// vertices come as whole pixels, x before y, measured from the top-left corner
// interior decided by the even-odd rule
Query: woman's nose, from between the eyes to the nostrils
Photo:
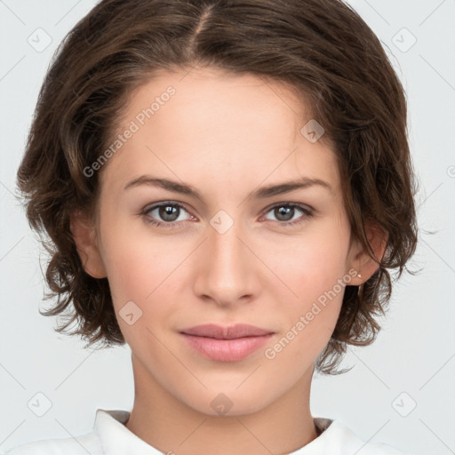
[[[247,235],[234,224],[226,230],[208,226],[196,258],[196,295],[220,306],[234,306],[257,298],[259,259],[251,251]]]

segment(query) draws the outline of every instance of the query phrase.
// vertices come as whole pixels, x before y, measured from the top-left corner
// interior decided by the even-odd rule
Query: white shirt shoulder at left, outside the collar
[[[75,438],[47,439],[22,444],[0,455],[101,455],[103,453],[100,438],[89,433]]]

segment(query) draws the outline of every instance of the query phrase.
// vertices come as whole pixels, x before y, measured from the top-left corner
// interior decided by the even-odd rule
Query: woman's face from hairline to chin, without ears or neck
[[[309,121],[256,76],[182,71],[132,93],[101,169],[98,246],[144,386],[212,415],[309,387],[358,281],[335,156]],[[271,334],[181,333],[238,323]]]

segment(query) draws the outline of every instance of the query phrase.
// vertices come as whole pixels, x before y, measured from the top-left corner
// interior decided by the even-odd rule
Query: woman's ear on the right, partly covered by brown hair
[[[387,248],[387,232],[373,221],[365,222],[365,232],[375,258],[380,261]],[[366,251],[360,243],[357,242],[357,245],[357,252],[352,260],[351,266],[357,271],[357,274],[362,275],[355,277],[355,281],[358,281],[355,285],[358,286],[367,281],[371,275],[379,269],[379,264],[371,258],[368,251]]]

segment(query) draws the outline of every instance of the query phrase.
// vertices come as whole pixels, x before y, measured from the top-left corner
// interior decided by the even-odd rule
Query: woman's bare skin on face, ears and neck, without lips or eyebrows
[[[296,451],[317,437],[311,379],[343,291],[274,359],[265,350],[349,270],[362,273],[350,282],[360,285],[377,264],[351,241],[335,156],[328,142],[311,143],[300,133],[311,116],[294,92],[215,69],[164,73],[132,92],[120,131],[169,85],[175,95],[102,168],[96,223],[82,213],[71,221],[86,272],[108,277],[132,349],[135,400],[126,427],[164,453]],[[124,190],[143,174],[185,182],[204,203],[145,184]],[[247,197],[304,176],[331,189]],[[146,222],[166,222],[152,210],[164,201],[185,207],[174,228]],[[293,216],[280,219],[278,203],[302,204],[313,216],[294,207]],[[210,223],[220,210],[234,222],[222,234]],[[302,222],[284,226],[286,220]],[[375,231],[367,231],[381,256]],[[128,301],[142,311],[132,325],[119,316]],[[179,333],[201,323],[250,323],[275,334],[242,361],[217,362]],[[220,393],[232,404],[226,415],[211,406]]]

